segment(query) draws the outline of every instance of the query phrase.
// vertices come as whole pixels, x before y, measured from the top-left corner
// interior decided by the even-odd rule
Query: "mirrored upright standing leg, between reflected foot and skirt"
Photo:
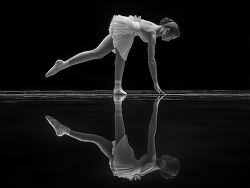
[[[117,101],[117,100],[116,100]],[[115,103],[115,140],[118,143],[125,135],[125,126],[122,117],[122,103]]]

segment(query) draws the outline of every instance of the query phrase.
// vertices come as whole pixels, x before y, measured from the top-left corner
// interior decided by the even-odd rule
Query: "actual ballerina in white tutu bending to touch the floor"
[[[109,34],[95,49],[76,54],[66,61],[57,60],[45,76],[52,76],[72,65],[103,58],[112,51],[116,54],[113,94],[127,94],[122,89],[122,77],[125,61],[127,60],[135,36],[139,36],[143,42],[148,43],[148,66],[154,83],[154,89],[159,94],[165,94],[161,90],[157,79],[157,65],[155,61],[156,38],[161,37],[163,41],[170,41],[180,36],[178,24],[167,17],[162,19],[160,24],[156,24],[142,19],[141,16],[114,15],[109,25]]]

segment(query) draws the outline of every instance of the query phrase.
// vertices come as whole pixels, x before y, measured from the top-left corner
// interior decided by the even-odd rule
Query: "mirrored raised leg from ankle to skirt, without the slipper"
[[[107,140],[106,138],[95,135],[95,134],[86,134],[86,133],[81,133],[81,132],[76,132],[70,130],[68,136],[75,138],[77,140],[80,140],[82,142],[91,142],[96,144],[99,149],[109,158],[111,159],[112,157],[112,142]]]

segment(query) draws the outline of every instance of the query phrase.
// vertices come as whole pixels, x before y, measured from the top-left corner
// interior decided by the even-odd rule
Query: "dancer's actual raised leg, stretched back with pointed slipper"
[[[95,49],[81,52],[69,58],[66,61],[57,60],[55,65],[46,73],[45,76],[46,77],[52,76],[57,72],[59,72],[60,70],[63,70],[72,65],[76,65],[93,59],[101,59],[109,52],[111,52],[113,49],[114,49],[113,39],[111,34],[109,34],[102,40],[102,42]]]

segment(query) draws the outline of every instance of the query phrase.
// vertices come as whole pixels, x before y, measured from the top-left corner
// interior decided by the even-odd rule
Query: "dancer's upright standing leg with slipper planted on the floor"
[[[125,67],[125,61],[119,54],[119,51],[115,49],[115,87],[114,87],[114,94],[121,94],[126,95],[127,93],[122,89],[122,77],[123,71]]]

